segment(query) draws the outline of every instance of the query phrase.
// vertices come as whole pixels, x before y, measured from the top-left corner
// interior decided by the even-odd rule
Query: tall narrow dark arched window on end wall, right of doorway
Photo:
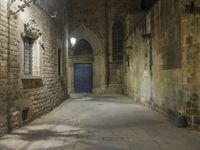
[[[122,63],[123,60],[124,27],[121,21],[113,24],[113,62]]]

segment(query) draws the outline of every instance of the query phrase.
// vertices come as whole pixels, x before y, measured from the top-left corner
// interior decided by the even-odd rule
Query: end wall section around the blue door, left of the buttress
[[[68,1],[69,37],[86,40],[93,50],[93,61],[85,60],[84,63],[93,64],[93,92],[105,91],[105,8],[104,1]],[[72,49],[71,49],[72,50]],[[73,50],[72,50],[73,51]],[[74,92],[74,63],[83,61],[73,59],[69,53],[69,91]]]

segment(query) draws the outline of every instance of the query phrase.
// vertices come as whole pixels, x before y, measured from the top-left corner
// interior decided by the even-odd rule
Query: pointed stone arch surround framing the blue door
[[[69,37],[75,37],[77,43],[84,39],[88,41],[93,50],[93,60],[74,57],[73,52],[69,52],[69,68],[68,68],[68,87],[69,92],[74,92],[74,64],[76,63],[92,63],[93,64],[93,93],[105,93],[105,53],[98,37],[85,26],[72,31]],[[72,50],[70,50],[72,51]]]

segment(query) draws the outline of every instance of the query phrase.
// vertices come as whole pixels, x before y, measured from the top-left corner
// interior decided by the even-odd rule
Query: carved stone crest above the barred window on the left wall
[[[40,32],[40,29],[38,27],[38,24],[33,17],[31,17],[29,19],[29,22],[27,24],[25,24],[24,27],[25,27],[25,30],[28,32],[36,34],[37,36],[42,35],[42,33]]]

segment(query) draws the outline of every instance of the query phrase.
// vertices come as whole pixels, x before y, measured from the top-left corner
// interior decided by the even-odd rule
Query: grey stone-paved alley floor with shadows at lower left
[[[2,137],[0,150],[200,150],[200,132],[124,96],[85,94]]]

